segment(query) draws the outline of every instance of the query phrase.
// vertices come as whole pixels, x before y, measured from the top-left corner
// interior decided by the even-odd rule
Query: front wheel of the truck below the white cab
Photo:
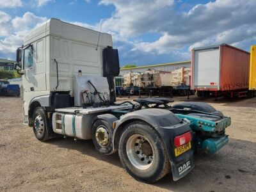
[[[49,124],[45,118],[44,108],[36,108],[33,112],[33,131],[36,136],[36,139],[39,141],[46,141],[51,138],[51,131],[49,129]]]

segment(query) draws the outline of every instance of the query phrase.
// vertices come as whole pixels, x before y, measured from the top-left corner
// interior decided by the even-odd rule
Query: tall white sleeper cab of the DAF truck
[[[49,19],[33,29],[17,49],[17,67],[23,74],[24,122],[32,124],[33,111],[38,106],[52,109],[74,106],[74,77],[79,71],[96,79],[105,76],[102,81],[108,78],[104,91],[110,90],[111,99],[115,100],[113,73],[107,69],[108,74],[103,68],[109,68],[109,61],[105,59],[103,63],[103,51],[109,49],[117,58],[116,67],[112,65],[111,70],[119,72],[118,52],[112,46],[111,35],[60,19]]]

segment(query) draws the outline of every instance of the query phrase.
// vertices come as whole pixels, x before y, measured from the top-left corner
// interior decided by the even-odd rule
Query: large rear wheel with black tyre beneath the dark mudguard
[[[125,128],[118,145],[125,170],[147,183],[156,182],[169,173],[170,162],[157,132],[144,122],[132,122]]]

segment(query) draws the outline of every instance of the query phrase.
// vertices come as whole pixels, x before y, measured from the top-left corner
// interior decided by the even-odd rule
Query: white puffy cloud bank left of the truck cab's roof
[[[0,12],[0,52],[14,53],[15,49],[22,45],[24,36],[45,20],[47,20],[46,17],[38,17],[30,12],[13,19],[7,13]]]

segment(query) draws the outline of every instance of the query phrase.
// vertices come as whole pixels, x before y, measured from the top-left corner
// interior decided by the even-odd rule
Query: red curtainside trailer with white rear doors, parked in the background
[[[244,97],[249,86],[250,53],[227,44],[192,50],[191,86],[198,96]]]

